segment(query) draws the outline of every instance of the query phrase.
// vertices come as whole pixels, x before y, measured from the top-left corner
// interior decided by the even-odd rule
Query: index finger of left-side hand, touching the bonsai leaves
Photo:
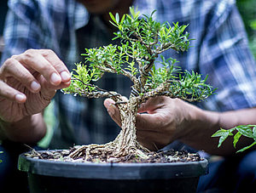
[[[60,58],[50,49],[40,49],[40,53],[46,60],[53,65],[61,75],[61,82],[69,82],[71,80],[71,74],[67,69],[67,66],[60,60]]]

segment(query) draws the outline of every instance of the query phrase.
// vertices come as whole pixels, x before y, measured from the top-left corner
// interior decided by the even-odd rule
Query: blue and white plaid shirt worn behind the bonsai
[[[256,105],[256,68],[247,47],[247,36],[235,0],[136,0],[143,14],[154,9],[155,20],[189,24],[189,51],[164,53],[177,58],[183,69],[208,75],[218,88],[216,95],[195,104],[210,111],[230,111]],[[84,48],[111,42],[111,33],[100,16],[88,14],[74,0],[10,0],[4,38],[3,61],[28,48],[49,48],[72,70]],[[102,88],[129,94],[124,77],[103,77]],[[119,128],[108,116],[103,99],[55,95],[55,134],[51,145],[105,143],[114,139]]]

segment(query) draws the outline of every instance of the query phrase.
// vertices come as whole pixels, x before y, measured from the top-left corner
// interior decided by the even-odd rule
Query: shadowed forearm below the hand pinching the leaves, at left
[[[46,133],[46,125],[42,113],[26,116],[18,122],[0,121],[0,139],[14,142],[36,143]]]

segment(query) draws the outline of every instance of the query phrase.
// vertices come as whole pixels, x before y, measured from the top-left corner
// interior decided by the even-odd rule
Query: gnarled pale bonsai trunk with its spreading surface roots
[[[105,145],[82,145],[79,149],[69,155],[71,158],[84,155],[84,160],[94,158],[93,155],[108,155],[106,160],[109,162],[119,162],[127,160],[132,156],[143,159],[148,158],[150,152],[137,142],[136,116],[139,97],[131,97],[127,103],[115,100],[119,105],[122,127],[119,135],[112,142]]]

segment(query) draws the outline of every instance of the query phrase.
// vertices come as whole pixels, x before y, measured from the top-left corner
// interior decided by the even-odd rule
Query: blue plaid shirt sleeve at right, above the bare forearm
[[[212,111],[231,111],[256,105],[256,65],[247,43],[236,3],[221,1],[212,9],[199,54],[200,73],[218,88],[199,105]]]

